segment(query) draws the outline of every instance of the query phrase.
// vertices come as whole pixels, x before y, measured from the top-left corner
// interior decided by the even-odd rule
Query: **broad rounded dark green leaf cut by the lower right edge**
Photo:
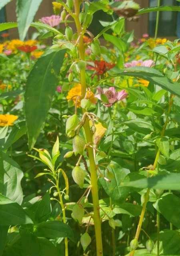
[[[166,218],[166,220],[171,222],[177,228],[180,228],[180,198],[178,196],[164,194],[153,204],[153,206],[164,216],[164,218]]]

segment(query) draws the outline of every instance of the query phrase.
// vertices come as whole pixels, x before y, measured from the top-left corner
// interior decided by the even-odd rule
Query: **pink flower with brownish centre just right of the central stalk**
[[[96,98],[101,100],[102,95],[105,95],[108,103],[104,103],[104,106],[110,107],[112,104],[117,102],[118,100],[123,100],[128,96],[128,93],[125,90],[122,90],[120,92],[116,92],[114,87],[110,87],[109,89],[102,89],[100,87],[97,88],[98,94],[95,95]]]

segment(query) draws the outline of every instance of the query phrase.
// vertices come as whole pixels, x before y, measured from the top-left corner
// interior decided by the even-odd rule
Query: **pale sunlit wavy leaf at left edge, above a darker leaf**
[[[23,192],[21,187],[21,180],[23,178],[23,172],[20,170],[20,166],[7,154],[2,153],[3,165],[4,165],[4,196],[7,196],[18,204],[22,203]]]

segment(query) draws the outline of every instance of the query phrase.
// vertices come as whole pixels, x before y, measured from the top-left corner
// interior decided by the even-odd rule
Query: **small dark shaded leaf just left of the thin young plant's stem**
[[[34,222],[40,223],[46,221],[51,215],[51,204],[50,204],[50,194],[47,192],[42,200],[37,202],[36,210],[34,213]]]

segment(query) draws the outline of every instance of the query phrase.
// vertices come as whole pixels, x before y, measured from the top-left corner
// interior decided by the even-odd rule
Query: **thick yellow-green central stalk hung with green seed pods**
[[[83,35],[82,35],[82,28],[79,20],[79,14],[80,14],[80,2],[78,0],[74,0],[74,9],[75,9],[75,23],[76,23],[76,29],[78,32],[78,52],[79,52],[79,58],[81,60],[84,60],[85,55],[85,49],[84,49],[84,42],[83,42]],[[86,70],[81,69],[80,70],[80,82],[81,82],[81,88],[82,88],[82,98],[84,98],[86,94]],[[84,112],[84,110],[82,110]],[[87,143],[92,144],[92,132],[90,130],[90,124],[88,118],[86,118],[86,121],[84,123],[84,130],[86,134],[86,140]],[[94,152],[93,149],[88,147],[88,158],[90,163],[90,177],[91,177],[91,191],[92,191],[92,200],[93,200],[93,208],[94,208],[94,228],[95,228],[95,234],[96,234],[96,252],[97,256],[103,255],[102,250],[102,234],[101,234],[101,218],[100,218],[100,207],[99,207],[99,196],[98,196],[98,176],[97,176],[97,168],[96,163],[94,159]]]

